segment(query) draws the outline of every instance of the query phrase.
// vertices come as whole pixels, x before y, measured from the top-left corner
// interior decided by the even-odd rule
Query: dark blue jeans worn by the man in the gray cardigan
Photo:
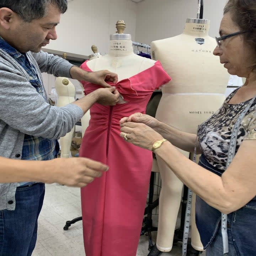
[[[31,256],[37,239],[37,219],[44,184],[18,187],[15,210],[0,211],[0,256]]]

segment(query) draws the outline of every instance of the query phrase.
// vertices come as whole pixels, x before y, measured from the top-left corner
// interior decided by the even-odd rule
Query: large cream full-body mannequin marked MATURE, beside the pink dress
[[[156,118],[184,132],[196,133],[197,126],[225,100],[229,74],[213,55],[216,41],[208,31],[209,20],[188,18],[182,34],[151,43],[151,56],[160,60],[172,78],[162,89]],[[189,153],[180,151],[189,157]],[[162,190],[156,247],[170,251],[183,184],[161,159],[157,160]],[[191,222],[192,246],[203,250],[195,222]]]

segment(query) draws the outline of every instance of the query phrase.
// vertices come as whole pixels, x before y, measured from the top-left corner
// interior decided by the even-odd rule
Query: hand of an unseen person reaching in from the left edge
[[[88,158],[57,158],[43,161],[43,182],[85,187],[108,170],[108,166]]]

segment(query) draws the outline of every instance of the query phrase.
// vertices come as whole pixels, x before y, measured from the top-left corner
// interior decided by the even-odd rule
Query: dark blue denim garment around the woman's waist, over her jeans
[[[221,176],[223,171],[210,165],[203,155],[200,156],[200,166]],[[221,213],[209,206],[200,197],[196,197],[196,225],[204,249],[214,240],[220,226]],[[244,207],[228,214],[228,229],[230,229],[234,244],[240,256],[256,255],[256,197]]]

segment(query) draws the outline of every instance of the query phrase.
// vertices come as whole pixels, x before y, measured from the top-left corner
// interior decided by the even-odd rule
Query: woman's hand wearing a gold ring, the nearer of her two
[[[120,126],[120,136],[126,139],[127,142],[140,146],[141,148],[152,150],[153,144],[163,139],[159,133],[144,123],[125,122],[121,123]]]

